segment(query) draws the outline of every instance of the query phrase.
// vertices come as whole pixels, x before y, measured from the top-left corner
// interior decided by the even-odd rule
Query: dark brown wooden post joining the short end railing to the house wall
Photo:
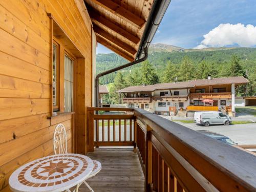
[[[94,152],[94,111],[88,111],[88,152]]]

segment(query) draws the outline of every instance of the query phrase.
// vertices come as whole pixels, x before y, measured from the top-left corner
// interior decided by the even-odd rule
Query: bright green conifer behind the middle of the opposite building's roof
[[[194,68],[191,59],[187,56],[183,57],[180,72],[179,72],[179,81],[188,81],[193,79]]]

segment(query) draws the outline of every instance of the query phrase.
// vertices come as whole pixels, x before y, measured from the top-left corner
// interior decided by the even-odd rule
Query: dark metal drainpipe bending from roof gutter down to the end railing
[[[144,48],[144,57],[138,59],[138,60],[135,60],[135,61],[132,61],[132,62],[129,62],[129,63],[126,63],[125,65],[122,65],[122,66],[119,66],[117,68],[113,68],[111,70],[108,70],[108,71],[104,71],[102,73],[99,73],[96,78],[95,78],[95,106],[99,106],[99,78],[104,76],[104,75],[108,75],[110,73],[113,73],[115,71],[118,71],[118,70],[121,70],[121,69],[124,69],[124,68],[127,68],[127,67],[130,67],[130,66],[133,66],[139,62],[142,62],[144,60],[147,59],[147,48]]]

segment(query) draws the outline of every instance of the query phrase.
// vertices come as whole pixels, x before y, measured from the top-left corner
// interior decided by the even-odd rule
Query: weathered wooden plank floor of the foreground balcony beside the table
[[[88,180],[95,192],[144,191],[144,175],[132,148],[96,148],[87,155],[102,164],[101,171]],[[79,191],[89,189],[82,184]]]

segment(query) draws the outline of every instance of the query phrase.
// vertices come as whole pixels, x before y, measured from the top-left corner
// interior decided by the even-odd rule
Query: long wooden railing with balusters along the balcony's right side
[[[145,191],[256,191],[254,155],[142,109],[133,116]]]

